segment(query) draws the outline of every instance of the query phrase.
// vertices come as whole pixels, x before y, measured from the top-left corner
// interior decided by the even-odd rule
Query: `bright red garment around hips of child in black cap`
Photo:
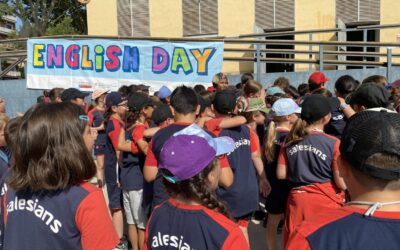
[[[324,210],[340,208],[343,203],[344,193],[331,182],[293,188],[285,214],[284,244],[304,220]]]

